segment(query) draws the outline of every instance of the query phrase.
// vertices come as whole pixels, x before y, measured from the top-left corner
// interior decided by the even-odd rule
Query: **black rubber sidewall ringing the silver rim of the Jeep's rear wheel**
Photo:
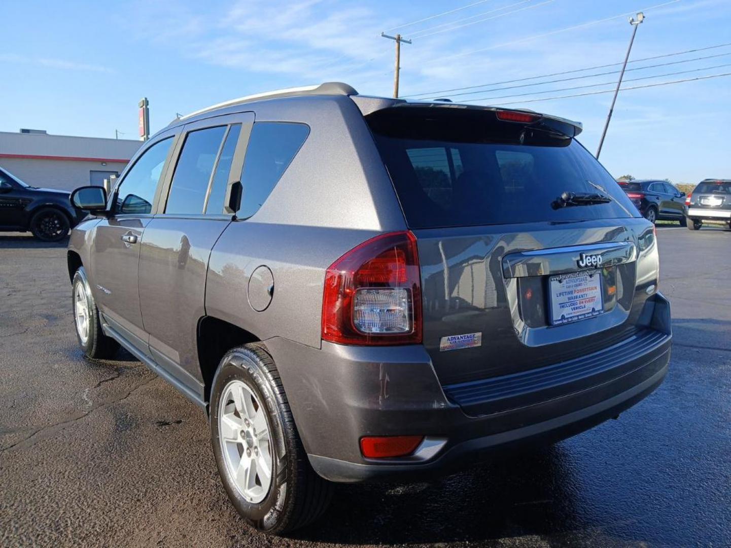
[[[221,453],[219,434],[219,406],[221,394],[231,380],[240,380],[259,398],[266,408],[267,427],[272,433],[273,459],[272,483],[268,494],[260,503],[250,503],[238,492],[232,478],[228,475],[224,456]],[[287,446],[282,418],[276,394],[271,389],[268,374],[260,364],[256,354],[251,350],[239,348],[227,353],[221,360],[219,372],[211,391],[211,442],[216,465],[219,468],[221,482],[233,505],[244,519],[258,530],[275,532],[281,528],[280,517],[290,503],[292,489],[289,489],[289,455],[292,451]]]

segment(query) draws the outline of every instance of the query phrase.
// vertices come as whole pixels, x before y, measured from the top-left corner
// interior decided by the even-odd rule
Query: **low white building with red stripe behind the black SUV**
[[[34,187],[72,190],[118,175],[142,141],[0,132],[0,166]]]

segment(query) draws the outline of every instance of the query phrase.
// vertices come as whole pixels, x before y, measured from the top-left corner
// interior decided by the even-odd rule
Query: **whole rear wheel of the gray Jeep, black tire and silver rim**
[[[262,427],[268,436],[262,435]],[[211,441],[233,506],[262,533],[303,527],[327,509],[333,486],[309,464],[279,372],[264,345],[233,348],[221,359],[211,390]],[[251,460],[258,467],[253,481]]]

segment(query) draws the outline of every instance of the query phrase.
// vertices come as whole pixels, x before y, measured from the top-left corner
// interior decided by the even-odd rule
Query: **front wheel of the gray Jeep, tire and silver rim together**
[[[107,337],[102,331],[102,323],[99,321],[99,309],[96,308],[96,301],[94,301],[94,295],[91,293],[83,266],[80,266],[74,274],[71,287],[74,326],[79,346],[89,358],[111,358],[119,350],[119,343],[113,338]],[[86,329],[84,329],[84,326],[86,326]]]

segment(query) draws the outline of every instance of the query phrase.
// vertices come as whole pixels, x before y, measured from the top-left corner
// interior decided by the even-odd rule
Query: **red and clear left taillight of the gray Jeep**
[[[421,342],[421,282],[416,237],[376,236],[325,274],[322,339],[343,345]]]

